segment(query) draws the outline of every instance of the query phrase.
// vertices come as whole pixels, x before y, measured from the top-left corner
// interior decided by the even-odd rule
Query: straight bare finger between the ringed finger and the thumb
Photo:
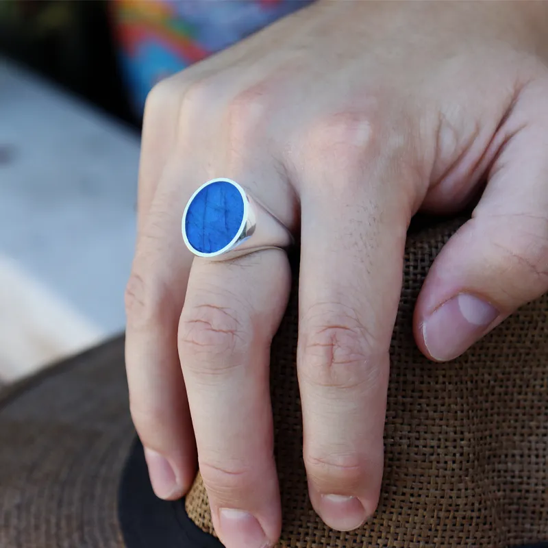
[[[357,178],[315,189],[302,198],[303,456],[314,509],[330,527],[352,530],[375,511],[382,482],[406,220]]]

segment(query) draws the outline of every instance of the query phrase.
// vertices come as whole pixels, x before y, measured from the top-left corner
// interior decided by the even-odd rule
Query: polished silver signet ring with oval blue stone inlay
[[[292,244],[289,230],[232,179],[212,179],[188,200],[182,219],[186,247],[209,260],[229,260]]]

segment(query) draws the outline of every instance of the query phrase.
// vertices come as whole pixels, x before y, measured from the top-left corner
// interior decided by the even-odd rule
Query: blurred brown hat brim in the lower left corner
[[[8,393],[9,390],[9,393]],[[0,395],[0,547],[121,548],[123,340]]]

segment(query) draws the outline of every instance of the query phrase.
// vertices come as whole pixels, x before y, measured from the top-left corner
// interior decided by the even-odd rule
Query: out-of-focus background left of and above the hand
[[[0,0],[0,386],[123,331],[160,79],[309,0]]]

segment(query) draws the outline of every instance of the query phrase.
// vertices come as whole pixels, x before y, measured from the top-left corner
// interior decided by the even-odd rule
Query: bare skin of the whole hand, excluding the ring
[[[548,289],[548,3],[319,1],[156,86],[127,285],[131,410],[155,493],[197,465],[228,548],[281,510],[269,347],[286,253],[192,260],[186,201],[229,177],[301,236],[298,375],[310,499],[337,530],[377,506],[410,219],[479,203],[416,303],[425,355],[459,356]],[[260,488],[258,488],[260,486]]]

